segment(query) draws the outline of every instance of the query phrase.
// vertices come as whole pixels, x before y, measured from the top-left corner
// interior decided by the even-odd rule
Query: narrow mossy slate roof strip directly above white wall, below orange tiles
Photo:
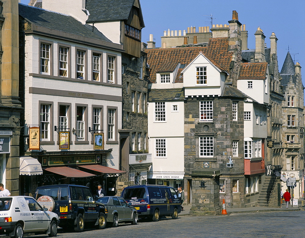
[[[176,97],[177,94],[180,94],[180,97]],[[148,101],[178,101],[184,100],[184,98],[183,88],[152,89],[148,93]]]

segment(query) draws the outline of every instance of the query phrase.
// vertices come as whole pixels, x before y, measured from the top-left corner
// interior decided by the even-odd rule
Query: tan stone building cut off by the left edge
[[[18,1],[0,2],[0,183],[11,195],[19,195],[19,100]]]

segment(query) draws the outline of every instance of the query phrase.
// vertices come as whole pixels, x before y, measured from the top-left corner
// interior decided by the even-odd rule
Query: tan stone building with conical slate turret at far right
[[[282,141],[284,147],[282,175],[296,178],[294,198],[304,197],[304,86],[301,66],[294,64],[288,52],[280,74],[285,102],[282,105]],[[282,190],[287,188],[282,182]],[[291,189],[291,187],[288,187]]]

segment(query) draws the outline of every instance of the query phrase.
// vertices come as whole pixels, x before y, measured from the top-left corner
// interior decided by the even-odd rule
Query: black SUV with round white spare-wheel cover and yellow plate
[[[106,227],[105,206],[96,202],[88,187],[80,185],[48,185],[36,189],[35,198],[59,216],[59,226],[82,232],[84,226]]]

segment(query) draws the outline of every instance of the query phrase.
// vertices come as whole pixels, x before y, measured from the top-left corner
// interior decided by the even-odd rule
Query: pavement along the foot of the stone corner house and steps
[[[179,213],[178,216],[191,216],[190,215],[190,209],[192,205],[184,205],[183,211]],[[286,212],[286,211],[301,211],[305,210],[305,200],[299,199],[298,200],[298,206],[292,207],[291,205],[288,205],[288,209],[286,209],[286,203],[283,202],[282,208],[277,207],[244,207],[244,208],[226,208],[227,213],[235,214],[235,213],[253,213],[253,212]]]

